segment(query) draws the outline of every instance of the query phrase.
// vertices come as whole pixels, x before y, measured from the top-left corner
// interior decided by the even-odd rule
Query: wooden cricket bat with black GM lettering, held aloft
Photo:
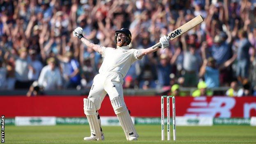
[[[181,25],[181,27],[178,27],[176,30],[168,34],[168,39],[173,40],[176,39],[177,37],[180,37],[182,34],[185,32],[191,30],[193,27],[197,26],[199,23],[203,22],[203,17],[201,15],[193,18],[192,20],[188,21],[184,25]],[[154,46],[151,46],[151,48],[156,48],[158,46],[161,46],[161,43],[158,42]]]

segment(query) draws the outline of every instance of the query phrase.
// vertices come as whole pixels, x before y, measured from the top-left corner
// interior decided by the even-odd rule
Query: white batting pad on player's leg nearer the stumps
[[[123,128],[124,134],[126,135],[126,139],[129,137],[139,137],[137,134],[135,127],[133,125],[133,121],[130,117],[130,114],[127,110],[127,107],[124,103],[122,97],[115,97],[111,101],[112,107],[114,109],[115,114],[120,121],[120,124]]]

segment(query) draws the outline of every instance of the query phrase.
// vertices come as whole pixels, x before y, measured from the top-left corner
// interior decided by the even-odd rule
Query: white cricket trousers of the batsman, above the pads
[[[94,77],[88,99],[94,103],[96,110],[99,110],[106,94],[109,95],[110,101],[118,96],[123,97],[122,85],[123,77],[121,73],[99,73]]]

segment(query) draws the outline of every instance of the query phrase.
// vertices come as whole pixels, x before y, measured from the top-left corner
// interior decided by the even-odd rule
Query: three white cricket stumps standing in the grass
[[[170,98],[172,98],[172,121],[173,121],[173,138],[176,140],[176,112],[175,112],[175,97],[174,96],[161,96],[161,130],[162,140],[165,140],[165,110],[164,100],[167,98],[167,140],[171,139],[170,133]]]

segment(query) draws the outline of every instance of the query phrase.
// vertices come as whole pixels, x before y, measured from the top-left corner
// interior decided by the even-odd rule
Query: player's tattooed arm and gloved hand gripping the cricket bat
[[[147,55],[149,53],[153,53],[155,51],[157,51],[159,48],[162,48],[162,49],[165,49],[169,46],[169,39],[166,37],[166,36],[163,36],[160,38],[159,42],[161,43],[161,46],[160,47],[157,47],[157,48],[146,48],[146,49],[139,49],[138,52],[137,52],[137,58],[138,59],[142,59],[142,57],[144,55]]]

